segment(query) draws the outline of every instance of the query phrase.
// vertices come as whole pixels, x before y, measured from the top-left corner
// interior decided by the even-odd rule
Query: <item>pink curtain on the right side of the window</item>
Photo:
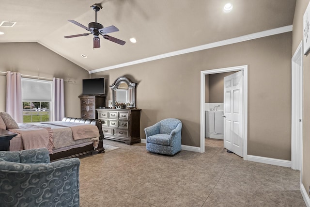
[[[63,79],[53,78],[51,121],[62,121],[64,117]]]

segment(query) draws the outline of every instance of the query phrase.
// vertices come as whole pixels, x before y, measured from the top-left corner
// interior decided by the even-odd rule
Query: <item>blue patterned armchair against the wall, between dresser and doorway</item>
[[[174,155],[181,150],[181,130],[182,122],[173,118],[146,127],[146,149],[159,154]]]

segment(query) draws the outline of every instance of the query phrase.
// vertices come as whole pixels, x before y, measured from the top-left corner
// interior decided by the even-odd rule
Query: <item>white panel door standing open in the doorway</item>
[[[224,147],[243,157],[243,71],[224,77]]]

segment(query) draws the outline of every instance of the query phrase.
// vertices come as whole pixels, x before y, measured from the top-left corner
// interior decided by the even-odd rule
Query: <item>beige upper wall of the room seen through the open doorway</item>
[[[224,77],[235,72],[216,73],[209,75],[208,87],[209,102],[206,103],[223,103],[224,102]],[[207,84],[207,83],[206,83]]]

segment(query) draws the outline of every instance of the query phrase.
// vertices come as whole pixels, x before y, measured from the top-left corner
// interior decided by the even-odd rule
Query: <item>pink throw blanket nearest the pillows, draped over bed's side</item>
[[[22,139],[24,149],[35,149],[45,147],[52,154],[53,152],[53,131],[50,127],[37,127],[23,124],[22,127],[10,129],[19,134]]]

